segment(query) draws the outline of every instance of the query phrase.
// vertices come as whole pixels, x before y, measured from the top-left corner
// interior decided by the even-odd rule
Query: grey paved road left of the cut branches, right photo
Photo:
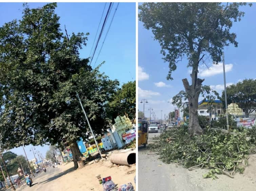
[[[150,133],[148,143],[158,133]],[[191,183],[188,170],[176,167],[175,164],[164,164],[149,148],[138,148],[138,183],[139,191],[202,191],[203,189]]]

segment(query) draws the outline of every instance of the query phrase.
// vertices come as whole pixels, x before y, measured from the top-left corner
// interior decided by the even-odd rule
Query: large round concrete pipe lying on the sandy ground
[[[113,164],[130,166],[136,163],[136,150],[123,150],[117,153],[113,153],[110,157],[110,161]]]

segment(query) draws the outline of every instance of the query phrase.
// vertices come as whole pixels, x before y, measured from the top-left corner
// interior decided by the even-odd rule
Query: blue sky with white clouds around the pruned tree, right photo
[[[233,24],[232,32],[237,34],[238,47],[233,45],[225,47],[225,71],[227,85],[237,83],[245,78],[255,78],[255,63],[256,63],[256,4],[252,7],[242,7],[245,16],[240,22]],[[149,108],[153,108],[156,116],[164,118],[164,114],[174,111],[174,106],[168,103],[172,97],[180,90],[183,90],[182,79],[188,78],[189,70],[187,68],[187,60],[183,59],[179,62],[177,70],[173,72],[173,81],[167,81],[166,76],[169,68],[168,63],[163,62],[163,56],[160,54],[161,47],[157,41],[153,39],[153,34],[150,30],[143,28],[141,22],[138,23],[138,64],[139,64],[139,102],[142,99],[147,99],[149,103],[145,104],[145,116],[149,117]],[[211,85],[218,92],[224,89],[223,85],[223,65],[212,65],[211,60],[206,61],[211,70],[206,66],[199,67],[199,77],[205,78],[203,85]],[[202,98],[199,97],[199,101]],[[143,111],[143,104],[139,103],[139,110]]]

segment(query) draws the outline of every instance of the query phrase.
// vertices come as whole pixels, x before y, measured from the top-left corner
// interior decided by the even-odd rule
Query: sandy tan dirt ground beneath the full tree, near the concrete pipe
[[[52,168],[52,167],[50,167]],[[73,163],[61,165],[48,176],[43,176],[33,183],[38,183],[29,187],[24,187],[24,191],[102,191],[102,185],[97,178],[111,176],[115,184],[122,185],[131,182],[134,186],[135,165],[131,167],[113,165],[110,160],[87,165],[84,168],[73,170]]]

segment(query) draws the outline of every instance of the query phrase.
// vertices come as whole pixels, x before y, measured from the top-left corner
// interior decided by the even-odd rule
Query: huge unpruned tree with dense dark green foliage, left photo
[[[21,20],[0,28],[0,141],[4,148],[68,144],[77,168],[83,158],[76,141],[90,133],[76,92],[101,134],[110,124],[106,103],[119,82],[80,58],[88,33],[63,34],[56,6],[25,5]]]

